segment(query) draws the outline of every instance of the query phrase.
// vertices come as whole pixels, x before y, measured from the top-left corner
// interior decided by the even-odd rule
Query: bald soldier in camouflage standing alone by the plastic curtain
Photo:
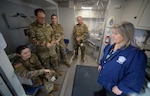
[[[78,24],[74,26],[73,35],[74,35],[74,49],[75,55],[73,60],[77,59],[78,49],[81,49],[81,61],[84,62],[84,53],[85,53],[85,42],[88,34],[88,27],[83,23],[81,16],[77,17]]]

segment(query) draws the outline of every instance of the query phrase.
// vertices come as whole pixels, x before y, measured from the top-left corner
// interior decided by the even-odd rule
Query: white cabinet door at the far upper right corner
[[[150,29],[150,0],[147,1],[146,6],[144,6],[144,10],[141,12],[138,26]]]

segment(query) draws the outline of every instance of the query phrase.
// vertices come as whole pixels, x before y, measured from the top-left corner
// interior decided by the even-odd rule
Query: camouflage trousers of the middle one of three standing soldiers
[[[56,52],[58,55],[59,62],[66,62],[67,61],[67,54],[66,54],[66,45],[63,42],[60,42],[59,45],[56,45]]]

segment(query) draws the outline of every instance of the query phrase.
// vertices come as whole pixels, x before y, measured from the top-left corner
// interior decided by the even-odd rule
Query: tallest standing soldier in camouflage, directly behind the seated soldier
[[[29,25],[29,40],[35,46],[44,67],[54,69],[61,76],[62,73],[58,70],[54,31],[50,24],[45,22],[46,15],[43,9],[36,9],[34,14],[36,21]]]

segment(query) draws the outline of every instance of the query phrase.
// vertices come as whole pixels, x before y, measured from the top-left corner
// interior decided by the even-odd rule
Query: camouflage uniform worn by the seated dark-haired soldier
[[[32,54],[28,60],[22,60],[18,57],[14,62],[15,73],[19,76],[32,79],[34,85],[44,85],[44,88],[48,93],[53,90],[54,84],[51,80],[52,77],[57,77],[57,74],[51,70],[51,73],[44,74],[44,67],[41,65],[37,56]]]

